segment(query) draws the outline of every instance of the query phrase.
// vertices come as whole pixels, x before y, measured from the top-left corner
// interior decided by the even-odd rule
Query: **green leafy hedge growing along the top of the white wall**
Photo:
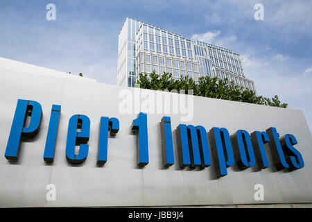
[[[193,95],[195,96],[270,105],[279,108],[287,108],[288,105],[287,103],[281,103],[277,95],[271,99],[257,96],[252,90],[243,89],[243,87],[235,85],[233,81],[229,83],[227,79],[218,80],[218,78],[211,78],[210,76],[200,77],[198,83],[196,83],[189,76],[184,76],[177,80],[172,77],[172,74],[164,72],[164,74],[159,75],[153,71],[151,74],[139,74],[137,85],[140,88],[153,90],[171,91],[175,89],[177,90],[176,92],[184,89],[186,94],[189,89],[193,89]]]

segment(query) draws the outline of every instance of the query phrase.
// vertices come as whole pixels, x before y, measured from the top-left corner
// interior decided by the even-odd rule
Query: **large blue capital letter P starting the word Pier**
[[[28,126],[25,127],[28,116],[31,116],[31,119]],[[42,108],[40,103],[24,99],[19,99],[17,101],[8,144],[6,146],[6,153],[4,154],[6,159],[18,159],[20,142],[37,135],[39,132],[41,117]]]

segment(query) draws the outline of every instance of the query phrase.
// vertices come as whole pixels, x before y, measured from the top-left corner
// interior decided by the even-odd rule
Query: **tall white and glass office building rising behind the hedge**
[[[139,73],[151,71],[196,81],[216,76],[255,91],[253,81],[245,78],[239,54],[127,18],[119,33],[117,84],[134,87]]]

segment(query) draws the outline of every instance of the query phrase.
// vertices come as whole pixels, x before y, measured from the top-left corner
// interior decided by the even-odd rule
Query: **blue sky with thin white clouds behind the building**
[[[257,3],[263,20],[254,19]],[[309,0],[0,0],[0,57],[116,84],[118,35],[130,17],[239,53],[257,94],[303,110],[311,131],[311,9]]]

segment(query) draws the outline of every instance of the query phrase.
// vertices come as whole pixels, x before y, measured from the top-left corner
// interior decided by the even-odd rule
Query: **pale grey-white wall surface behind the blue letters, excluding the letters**
[[[156,94],[90,80],[3,69],[0,94],[0,207],[312,203],[312,139],[300,110],[168,92]],[[157,110],[158,106],[150,102],[153,98],[157,101],[157,95],[169,95],[167,98],[172,100],[155,102],[163,104]],[[12,161],[6,159],[5,152],[18,99],[40,103],[42,120],[39,133],[21,142],[19,158]],[[54,160],[46,163],[43,155],[53,104],[61,105],[60,121]],[[170,113],[164,111],[168,104]],[[137,166],[137,135],[131,129],[139,112],[147,113],[149,159],[145,167]],[[69,119],[75,114],[90,120],[89,152],[81,164],[72,164],[66,157]],[[164,167],[163,162],[160,122],[164,116],[171,117],[171,167]],[[104,165],[97,164],[101,117],[116,117],[120,123],[119,132],[108,137]],[[275,127],[280,136],[295,136],[294,147],[303,157],[304,168],[278,171],[267,143],[270,167],[266,169],[254,166],[242,170],[235,163],[227,167],[227,176],[217,178],[217,161],[211,153],[210,167],[181,169],[176,133],[180,123],[200,125],[207,132],[213,127],[227,128],[229,135],[237,130],[252,133]],[[79,153],[79,146],[75,152]]]

